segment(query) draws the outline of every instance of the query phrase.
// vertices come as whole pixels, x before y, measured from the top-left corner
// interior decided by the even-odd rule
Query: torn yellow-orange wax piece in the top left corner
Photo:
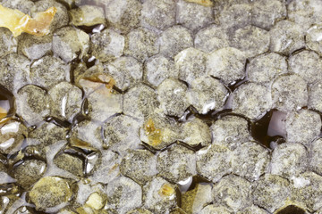
[[[18,37],[26,32],[31,35],[45,36],[54,20],[55,7],[50,7],[46,12],[38,12],[34,18],[18,10],[6,8],[0,4],[0,27],[10,29],[13,37]]]

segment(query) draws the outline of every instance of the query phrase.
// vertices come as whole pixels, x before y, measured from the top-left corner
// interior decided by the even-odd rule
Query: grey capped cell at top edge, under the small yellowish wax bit
[[[176,21],[193,31],[214,21],[212,7],[179,0],[176,5]]]

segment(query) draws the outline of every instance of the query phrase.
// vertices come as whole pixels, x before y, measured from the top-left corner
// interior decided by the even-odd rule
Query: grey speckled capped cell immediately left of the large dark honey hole
[[[252,139],[248,121],[233,115],[217,119],[210,130],[213,144],[224,144],[232,150]]]

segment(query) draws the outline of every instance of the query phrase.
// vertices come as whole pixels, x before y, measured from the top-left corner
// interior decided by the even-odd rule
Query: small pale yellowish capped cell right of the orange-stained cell
[[[201,119],[189,119],[182,124],[181,141],[191,147],[211,144],[211,132]]]

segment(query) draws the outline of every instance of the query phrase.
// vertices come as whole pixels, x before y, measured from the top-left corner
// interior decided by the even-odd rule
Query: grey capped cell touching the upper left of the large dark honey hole
[[[233,92],[232,109],[250,119],[258,119],[273,106],[267,86],[246,83]]]

